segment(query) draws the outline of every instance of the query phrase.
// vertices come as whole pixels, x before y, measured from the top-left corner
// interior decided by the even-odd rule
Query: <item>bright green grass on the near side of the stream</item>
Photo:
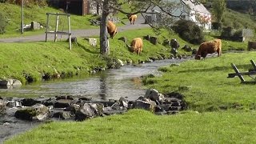
[[[185,95],[189,110],[156,116],[144,110],[94,118],[85,122],[50,122],[6,143],[254,143],[256,142],[255,85],[242,85],[230,62],[239,70],[251,68],[255,52],[222,54],[219,58],[182,62],[161,68],[159,78],[148,78],[148,88]],[[198,110],[194,112],[193,110]]]

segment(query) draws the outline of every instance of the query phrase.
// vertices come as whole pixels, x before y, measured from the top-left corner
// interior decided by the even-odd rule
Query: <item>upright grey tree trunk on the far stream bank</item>
[[[100,26],[100,53],[101,54],[109,54],[110,46],[109,40],[107,38],[107,30],[106,30],[106,22],[108,15],[110,14],[108,8],[108,0],[103,2],[103,10],[102,10],[102,18],[101,18],[101,26]]]

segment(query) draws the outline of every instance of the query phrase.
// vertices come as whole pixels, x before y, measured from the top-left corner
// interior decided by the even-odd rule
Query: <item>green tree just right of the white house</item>
[[[220,24],[226,11],[226,0],[214,0],[213,14],[216,21]]]

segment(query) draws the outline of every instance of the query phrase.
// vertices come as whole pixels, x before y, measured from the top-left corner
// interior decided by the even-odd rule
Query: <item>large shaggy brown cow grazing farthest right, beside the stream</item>
[[[212,54],[214,52],[218,53],[218,57],[222,55],[222,40],[215,39],[210,42],[202,42],[199,46],[197,54],[195,54],[195,59],[206,58],[207,54]]]

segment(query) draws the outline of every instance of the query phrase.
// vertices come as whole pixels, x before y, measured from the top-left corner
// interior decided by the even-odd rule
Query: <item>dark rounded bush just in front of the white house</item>
[[[205,40],[202,30],[194,22],[179,20],[174,24],[173,29],[181,38],[190,43],[200,44]]]

